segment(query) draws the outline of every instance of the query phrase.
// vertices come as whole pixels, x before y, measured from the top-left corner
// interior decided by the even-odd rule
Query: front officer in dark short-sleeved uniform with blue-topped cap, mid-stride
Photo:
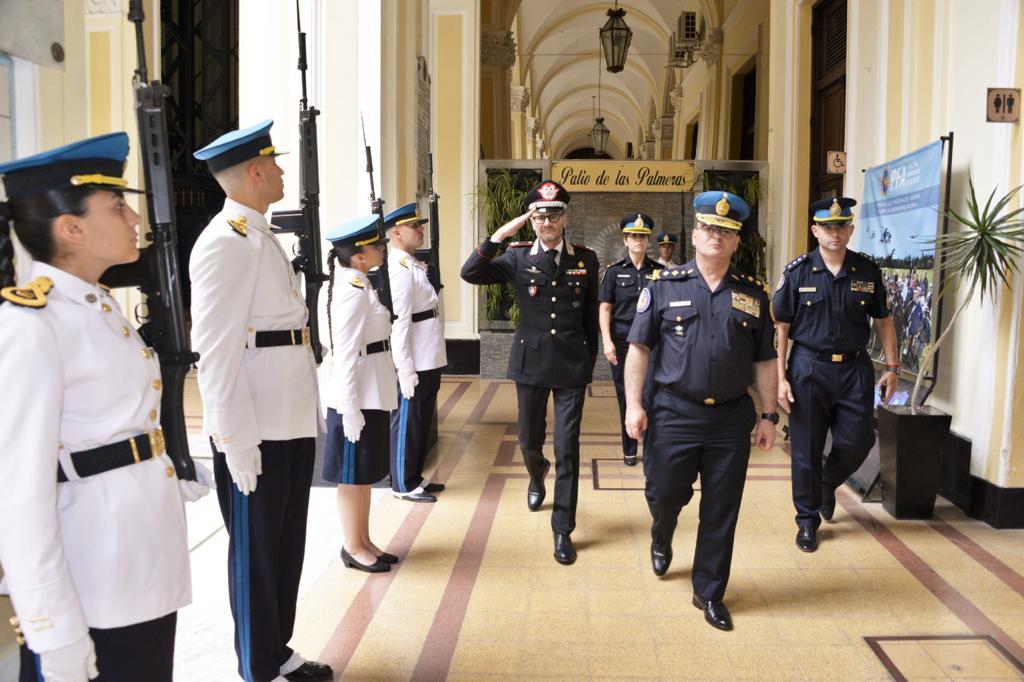
[[[700,475],[700,525],[693,556],[693,605],[720,630],[732,619],[722,603],[733,536],[751,456],[751,431],[762,450],[775,441],[776,413],[760,420],[748,388],[774,406],[775,349],[763,283],[729,266],[750,207],[736,195],[706,191],[693,202],[694,260],[654,275],[637,301],[626,359],[626,426],[646,430],[644,474],[653,518],[655,576],[672,562],[680,510]],[[649,417],[641,400],[650,353],[656,388]]]

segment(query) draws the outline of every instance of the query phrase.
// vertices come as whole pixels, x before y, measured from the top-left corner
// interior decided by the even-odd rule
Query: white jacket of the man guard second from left
[[[248,235],[237,231],[244,218]],[[256,332],[298,330],[308,312],[299,276],[266,218],[227,199],[188,263],[191,345],[200,354],[203,434],[221,452],[323,430],[307,345],[256,348]]]

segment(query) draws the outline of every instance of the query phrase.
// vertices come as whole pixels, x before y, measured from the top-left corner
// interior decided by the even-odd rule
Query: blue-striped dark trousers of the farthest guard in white
[[[403,398],[399,388],[398,409],[391,411],[391,489],[395,493],[409,493],[423,483],[427,436],[441,387],[440,368],[416,376],[420,383],[413,398]]]

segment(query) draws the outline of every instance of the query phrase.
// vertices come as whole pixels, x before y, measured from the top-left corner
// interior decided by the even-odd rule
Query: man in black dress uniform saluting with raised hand
[[[519,449],[529,487],[526,504],[537,511],[544,502],[548,396],[555,396],[555,505],[551,514],[555,560],[569,564],[577,552],[569,535],[575,528],[580,485],[580,423],[587,384],[597,360],[597,255],[565,241],[569,193],[542,180],[526,195],[528,210],[484,240],[462,266],[470,284],[511,282],[519,301],[519,327],[512,339],[508,377],[519,400]],[[502,242],[531,220],[538,239]]]

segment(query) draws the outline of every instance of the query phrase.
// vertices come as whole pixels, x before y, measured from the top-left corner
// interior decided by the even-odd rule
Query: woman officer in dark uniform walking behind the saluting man
[[[637,464],[637,441],[626,432],[626,389],[623,385],[623,370],[626,367],[626,351],[630,344],[626,337],[637,312],[640,292],[650,282],[651,274],[662,269],[662,264],[647,257],[650,232],[654,221],[645,213],[631,213],[618,221],[623,230],[623,244],[627,256],[608,266],[601,282],[600,306],[601,338],[604,356],[611,365],[611,378],[615,382],[615,398],[618,400],[618,421],[623,432],[623,463],[635,467]]]

